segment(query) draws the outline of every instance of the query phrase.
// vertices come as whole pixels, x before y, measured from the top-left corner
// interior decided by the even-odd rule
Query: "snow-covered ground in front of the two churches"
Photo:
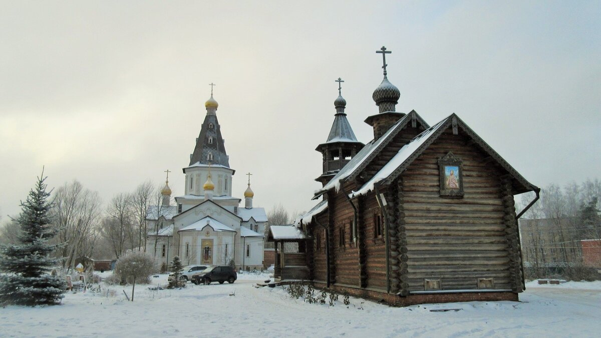
[[[1,337],[599,337],[601,282],[528,283],[521,302],[426,304],[404,308],[342,297],[334,307],[293,300],[281,287],[234,284],[150,291],[103,286],[66,294],[61,306],[0,309]],[[166,282],[166,276],[153,279]],[[108,291],[108,292],[107,292]],[[235,295],[230,295],[234,294]],[[430,312],[438,309],[459,311]]]

